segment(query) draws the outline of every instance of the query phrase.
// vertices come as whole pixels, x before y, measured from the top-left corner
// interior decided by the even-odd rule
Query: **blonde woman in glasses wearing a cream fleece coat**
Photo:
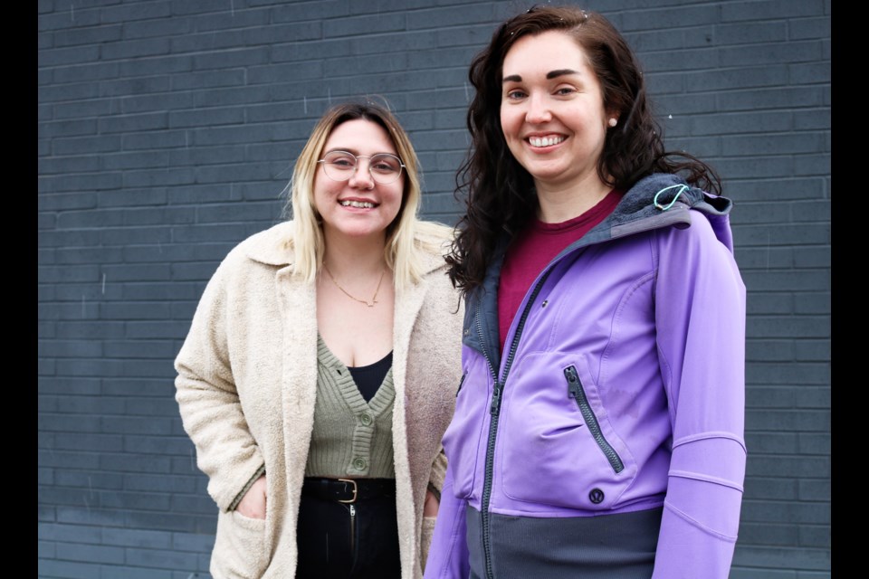
[[[329,109],[296,162],[293,220],[205,289],[176,385],[220,509],[216,579],[422,575],[463,312],[450,230],[417,219],[417,165],[387,109]]]

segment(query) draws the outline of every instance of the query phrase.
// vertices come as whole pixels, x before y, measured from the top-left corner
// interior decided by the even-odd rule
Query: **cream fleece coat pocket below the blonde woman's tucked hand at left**
[[[238,511],[217,517],[211,572],[217,577],[259,579],[269,565],[266,520],[244,517]]]

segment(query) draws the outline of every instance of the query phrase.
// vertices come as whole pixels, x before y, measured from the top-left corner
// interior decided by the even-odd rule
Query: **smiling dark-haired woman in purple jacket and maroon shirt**
[[[745,306],[718,178],[665,152],[600,14],[520,14],[470,78],[463,381],[425,577],[726,577]]]

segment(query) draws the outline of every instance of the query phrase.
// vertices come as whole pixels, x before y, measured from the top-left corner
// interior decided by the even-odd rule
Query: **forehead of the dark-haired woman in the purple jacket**
[[[586,52],[568,33],[552,30],[527,35],[504,56],[503,76],[557,69],[588,70]]]

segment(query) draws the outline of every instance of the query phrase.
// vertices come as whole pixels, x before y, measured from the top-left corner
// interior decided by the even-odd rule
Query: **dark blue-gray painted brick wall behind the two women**
[[[329,103],[382,95],[453,223],[467,65],[529,3],[39,0],[41,577],[207,576],[215,508],[172,359],[216,263],[282,219]],[[829,0],[589,1],[645,65],[671,148],[716,166],[749,290],[734,579],[831,569]]]

